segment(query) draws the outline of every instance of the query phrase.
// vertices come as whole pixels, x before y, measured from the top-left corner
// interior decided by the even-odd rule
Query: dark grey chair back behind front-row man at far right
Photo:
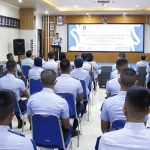
[[[145,86],[146,67],[139,67],[138,85]]]

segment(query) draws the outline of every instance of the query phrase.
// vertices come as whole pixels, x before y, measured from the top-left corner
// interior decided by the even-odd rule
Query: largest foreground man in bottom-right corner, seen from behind
[[[149,113],[150,92],[144,87],[128,89],[123,106],[126,124],[123,129],[102,135],[98,150],[149,150],[150,130],[144,125]]]

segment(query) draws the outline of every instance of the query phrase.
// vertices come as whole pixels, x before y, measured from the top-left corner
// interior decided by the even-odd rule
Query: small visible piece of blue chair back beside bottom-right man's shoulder
[[[110,126],[110,129],[123,128],[126,123],[126,120],[115,119]]]

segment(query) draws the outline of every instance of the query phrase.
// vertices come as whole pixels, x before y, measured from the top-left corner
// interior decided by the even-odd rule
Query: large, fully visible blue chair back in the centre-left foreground
[[[56,115],[33,115],[32,136],[39,147],[65,149],[60,121]]]

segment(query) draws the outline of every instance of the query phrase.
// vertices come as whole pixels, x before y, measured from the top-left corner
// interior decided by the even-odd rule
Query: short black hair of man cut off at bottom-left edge
[[[14,111],[14,93],[10,90],[0,90],[0,123]]]

